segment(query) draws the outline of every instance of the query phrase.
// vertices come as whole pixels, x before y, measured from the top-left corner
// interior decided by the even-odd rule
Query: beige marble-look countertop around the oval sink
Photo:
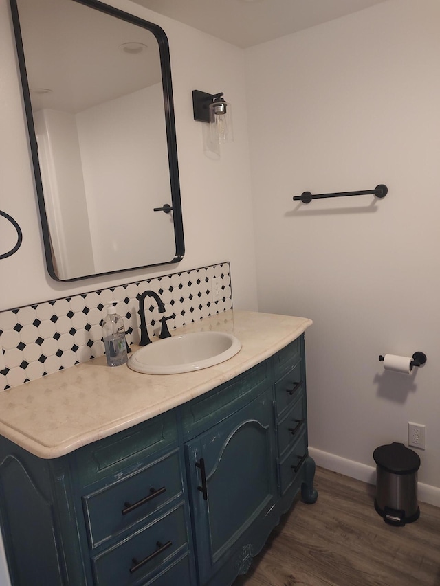
[[[140,374],[127,365],[110,368],[104,356],[72,366],[1,392],[0,434],[40,458],[58,458],[233,379],[287,346],[311,324],[304,317],[234,310],[201,319],[173,330],[173,335],[232,333],[241,341],[240,352],[221,364],[184,374]]]

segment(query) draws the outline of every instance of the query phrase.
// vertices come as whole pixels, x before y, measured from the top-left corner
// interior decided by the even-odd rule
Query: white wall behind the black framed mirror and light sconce
[[[19,251],[1,261],[0,311],[225,260],[231,262],[234,306],[255,309],[243,51],[129,0],[109,3],[154,21],[168,36],[184,213],[184,260],[159,270],[120,273],[78,284],[55,282],[47,275],[10,11],[8,0],[0,0],[0,209],[14,216],[23,229]],[[193,89],[224,91],[234,106],[234,142],[225,145],[219,161],[203,155],[201,123],[192,120]]]

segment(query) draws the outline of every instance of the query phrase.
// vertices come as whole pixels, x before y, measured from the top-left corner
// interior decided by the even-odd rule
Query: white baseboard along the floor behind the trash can
[[[376,469],[374,466],[347,460],[347,458],[341,458],[339,455],[311,447],[309,447],[309,454],[315,460],[317,466],[322,466],[322,468],[327,468],[327,470],[344,474],[356,480],[362,480],[362,482],[367,482],[368,484],[376,484]],[[419,482],[417,485],[417,499],[419,502],[440,506],[440,488]]]

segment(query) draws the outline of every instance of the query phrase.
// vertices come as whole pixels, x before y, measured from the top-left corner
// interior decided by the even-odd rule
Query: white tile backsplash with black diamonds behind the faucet
[[[221,278],[223,292],[221,300],[215,302],[213,277]],[[146,323],[152,340],[159,335],[160,317],[171,316],[167,325],[172,330],[232,308],[230,264],[225,262],[3,311],[0,390],[102,356],[102,318],[107,315],[109,302],[118,302],[116,311],[124,317],[127,342],[138,342],[138,300],[148,289],[159,295],[166,309],[159,315],[155,302],[146,298]]]

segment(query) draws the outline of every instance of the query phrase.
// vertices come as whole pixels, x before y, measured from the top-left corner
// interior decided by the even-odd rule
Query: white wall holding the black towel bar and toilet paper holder
[[[439,30],[438,0],[389,0],[246,51],[259,309],[314,320],[310,444],[375,466],[424,424],[419,480],[437,488]],[[379,183],[381,201],[292,201]],[[378,361],[417,350],[411,376]]]

